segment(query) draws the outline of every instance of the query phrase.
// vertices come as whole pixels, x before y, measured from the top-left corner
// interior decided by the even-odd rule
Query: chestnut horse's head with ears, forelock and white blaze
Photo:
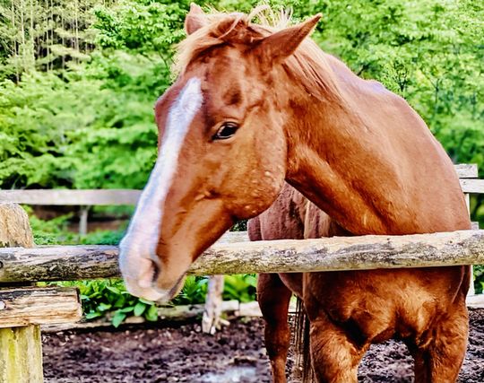
[[[158,160],[120,244],[129,292],[169,300],[223,232],[272,205],[289,150],[290,90],[274,92],[275,73],[319,18],[274,31],[192,5],[177,81],[155,106]]]

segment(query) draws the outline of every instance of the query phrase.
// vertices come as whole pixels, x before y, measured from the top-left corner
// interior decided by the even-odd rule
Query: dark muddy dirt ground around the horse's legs
[[[234,320],[217,335],[194,323],[117,332],[43,335],[46,383],[270,382],[260,318]],[[411,357],[403,344],[373,345],[359,381],[412,382]],[[461,383],[484,382],[484,309],[471,311],[468,352]]]

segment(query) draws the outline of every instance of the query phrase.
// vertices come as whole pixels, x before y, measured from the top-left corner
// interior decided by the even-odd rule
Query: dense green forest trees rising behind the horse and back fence
[[[258,1],[198,1],[249,11]],[[402,95],[484,177],[484,2],[287,0],[326,52]],[[0,0],[0,188],[142,188],[190,1]],[[432,175],[438,177],[438,175]],[[429,196],[431,198],[431,196]],[[471,214],[484,222],[484,196]]]

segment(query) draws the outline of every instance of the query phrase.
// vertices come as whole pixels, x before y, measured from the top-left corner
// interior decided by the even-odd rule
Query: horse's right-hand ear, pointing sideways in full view
[[[294,53],[299,44],[311,34],[319,19],[321,19],[321,13],[317,13],[306,22],[267,36],[255,47],[255,55],[269,66],[281,63]]]

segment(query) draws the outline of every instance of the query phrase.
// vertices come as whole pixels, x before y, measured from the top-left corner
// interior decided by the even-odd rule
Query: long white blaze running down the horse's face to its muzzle
[[[157,260],[163,208],[173,177],[177,172],[179,152],[195,114],[202,106],[200,80],[186,82],[169,109],[158,160],[143,189],[125,238],[119,244],[119,265],[129,292],[149,300],[160,300],[166,292],[151,287]]]

